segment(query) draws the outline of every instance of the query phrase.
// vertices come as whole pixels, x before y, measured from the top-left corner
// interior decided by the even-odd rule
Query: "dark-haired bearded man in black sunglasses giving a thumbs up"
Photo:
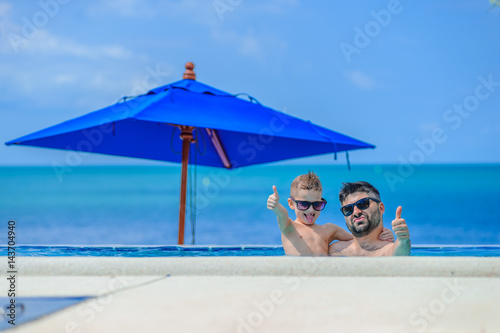
[[[378,190],[367,182],[344,183],[340,189],[341,212],[353,240],[332,243],[328,252],[332,256],[407,256],[410,255],[410,234],[406,221],[401,218],[402,207],[396,209],[392,230],[396,242],[378,239],[383,228],[384,203]]]

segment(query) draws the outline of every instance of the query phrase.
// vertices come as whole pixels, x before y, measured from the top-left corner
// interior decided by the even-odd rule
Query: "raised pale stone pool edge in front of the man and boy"
[[[7,262],[7,257],[0,260]],[[22,276],[500,277],[498,257],[18,257]],[[6,267],[1,267],[7,274]]]

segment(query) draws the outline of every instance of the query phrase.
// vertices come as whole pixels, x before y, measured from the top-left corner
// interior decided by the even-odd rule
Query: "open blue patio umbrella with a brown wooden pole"
[[[254,98],[183,80],[6,142],[182,163],[178,243],[184,243],[189,160],[234,169],[375,146],[265,107]],[[182,139],[178,140],[176,137]],[[190,151],[196,142],[199,149]],[[201,151],[201,153],[200,153]]]

